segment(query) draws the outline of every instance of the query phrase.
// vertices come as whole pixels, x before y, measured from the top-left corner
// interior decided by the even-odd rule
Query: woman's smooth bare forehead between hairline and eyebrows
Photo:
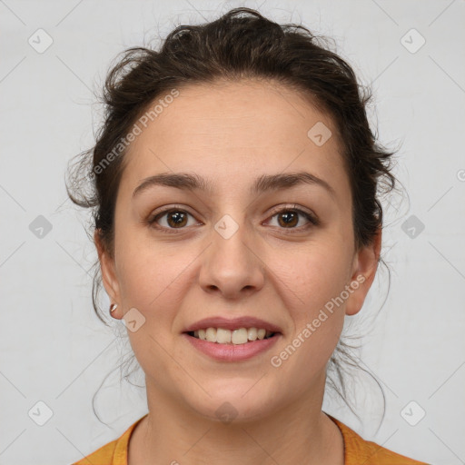
[[[158,112],[145,117],[146,127],[139,124],[122,183],[134,188],[147,176],[172,171],[238,185],[259,173],[307,170],[348,187],[331,117],[290,87],[248,80],[192,84],[178,92],[150,105],[159,104]],[[323,128],[325,138],[331,134],[325,143],[312,139],[314,127]]]

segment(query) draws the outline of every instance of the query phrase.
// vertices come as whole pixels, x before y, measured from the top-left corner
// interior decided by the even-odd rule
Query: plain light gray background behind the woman
[[[365,336],[360,363],[381,383],[386,416],[378,429],[380,391],[366,376],[353,387],[362,422],[334,396],[323,407],[388,449],[465,463],[465,2],[167,4],[0,0],[0,464],[71,463],[146,412],[143,389],[120,386],[113,371],[95,403],[109,426],[94,416],[94,392],[130,348],[117,339],[121,323],[107,329],[94,316],[96,255],[87,213],[66,200],[64,173],[94,142],[93,92],[117,53],[240,5],[333,37],[361,82],[372,84],[381,142],[401,143],[395,173],[408,197],[383,202],[391,290],[380,311],[381,267],[362,311],[348,318],[351,333]],[[43,53],[39,28],[53,40]],[[45,224],[39,215],[50,231],[37,229]]]

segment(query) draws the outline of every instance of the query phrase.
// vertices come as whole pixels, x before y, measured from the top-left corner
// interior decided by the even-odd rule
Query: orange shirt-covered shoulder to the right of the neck
[[[410,459],[404,455],[388,450],[372,442],[364,440],[354,430],[340,420],[331,417],[336,423],[344,439],[344,465],[428,465],[426,462]]]

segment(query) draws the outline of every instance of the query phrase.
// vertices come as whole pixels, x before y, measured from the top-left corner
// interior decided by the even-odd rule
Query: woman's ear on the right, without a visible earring
[[[365,298],[374,280],[381,252],[381,227],[373,241],[355,252],[351,271],[351,294],[346,301],[346,315],[355,315],[361,311]]]

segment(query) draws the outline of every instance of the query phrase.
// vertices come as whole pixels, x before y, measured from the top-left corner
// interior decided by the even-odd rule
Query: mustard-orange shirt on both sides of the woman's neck
[[[117,440],[95,450],[83,460],[73,465],[127,465],[129,439],[137,423],[148,415],[135,421]],[[327,413],[328,415],[328,413]],[[387,450],[371,440],[363,440],[354,430],[328,415],[336,423],[344,440],[344,465],[428,465],[425,462],[409,459]]]

